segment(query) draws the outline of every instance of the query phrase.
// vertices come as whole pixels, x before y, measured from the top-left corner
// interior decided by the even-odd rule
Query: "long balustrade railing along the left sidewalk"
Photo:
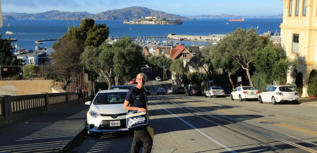
[[[0,126],[78,103],[75,92],[0,95]]]

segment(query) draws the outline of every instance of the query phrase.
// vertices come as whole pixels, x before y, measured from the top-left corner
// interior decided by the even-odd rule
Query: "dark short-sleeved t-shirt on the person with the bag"
[[[146,96],[144,95],[144,90],[137,87],[130,89],[125,97],[125,99],[130,102],[130,106],[146,109],[145,98]]]

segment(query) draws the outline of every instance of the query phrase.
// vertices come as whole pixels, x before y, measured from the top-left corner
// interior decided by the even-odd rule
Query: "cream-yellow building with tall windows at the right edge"
[[[317,68],[317,1],[283,0],[283,22],[281,23],[281,46],[291,59],[305,59],[296,69],[303,74],[303,94],[307,94],[309,74]],[[295,82],[291,75],[287,83]]]

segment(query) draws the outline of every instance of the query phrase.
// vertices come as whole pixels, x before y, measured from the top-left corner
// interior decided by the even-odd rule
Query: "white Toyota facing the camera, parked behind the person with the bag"
[[[85,125],[88,136],[98,132],[128,130],[125,118],[128,111],[123,109],[127,93],[127,89],[101,90],[93,101],[85,103],[90,105]]]

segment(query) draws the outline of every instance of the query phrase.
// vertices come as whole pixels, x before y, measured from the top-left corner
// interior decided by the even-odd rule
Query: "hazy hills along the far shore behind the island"
[[[275,16],[236,16],[236,15],[198,15],[198,16],[180,16],[163,11],[156,11],[145,7],[128,7],[118,10],[108,10],[98,14],[91,14],[88,12],[61,12],[57,10],[47,11],[42,13],[14,13],[3,12],[4,19],[63,19],[63,20],[81,20],[84,18],[91,18],[94,20],[137,20],[146,16],[156,16],[157,18],[164,17],[168,20],[182,19],[193,20],[195,18],[235,18],[235,17],[283,17],[283,14]]]

